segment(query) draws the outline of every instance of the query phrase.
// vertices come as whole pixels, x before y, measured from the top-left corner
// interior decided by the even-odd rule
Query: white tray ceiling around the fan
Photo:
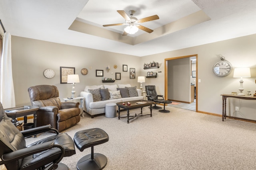
[[[255,0],[0,0],[0,19],[11,35],[141,57],[255,34],[255,9]],[[122,36],[123,25],[102,27],[125,22],[117,10],[160,19],[141,23],[154,30],[150,34],[139,30]],[[200,11],[208,19],[186,18]],[[84,33],[88,25],[82,31],[69,29],[75,20],[91,30]]]

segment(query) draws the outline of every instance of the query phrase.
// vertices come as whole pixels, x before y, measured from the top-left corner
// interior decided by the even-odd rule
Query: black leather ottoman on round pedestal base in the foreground
[[[107,164],[107,157],[100,153],[94,153],[94,146],[108,142],[108,134],[99,128],[86,129],[76,132],[74,143],[82,152],[91,147],[91,154],[82,157],[76,164],[78,170],[101,170]]]

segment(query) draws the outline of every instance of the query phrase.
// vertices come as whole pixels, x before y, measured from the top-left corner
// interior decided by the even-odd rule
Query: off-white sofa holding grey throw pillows
[[[84,111],[91,115],[93,118],[94,115],[105,113],[105,106],[108,103],[118,103],[118,102],[128,102],[133,100],[144,100],[142,96],[142,91],[140,89],[136,89],[138,96],[135,97],[122,97],[116,99],[108,99],[94,102],[93,95],[90,93],[90,90],[108,89],[110,92],[118,91],[117,88],[125,88],[131,87],[130,84],[114,84],[114,85],[98,85],[98,86],[86,86],[84,91],[80,92],[80,96],[84,97]],[[136,87],[136,86],[135,86]],[[90,89],[90,90],[89,90]],[[131,95],[132,96],[132,95]]]

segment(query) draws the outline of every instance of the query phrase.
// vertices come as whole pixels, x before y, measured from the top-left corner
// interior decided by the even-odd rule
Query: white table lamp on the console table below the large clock
[[[234,78],[239,78],[240,77],[240,88],[238,88],[238,90],[240,91],[240,93],[238,93],[238,96],[245,96],[245,94],[243,94],[243,77],[251,77],[251,72],[250,72],[250,68],[235,68],[234,69]]]

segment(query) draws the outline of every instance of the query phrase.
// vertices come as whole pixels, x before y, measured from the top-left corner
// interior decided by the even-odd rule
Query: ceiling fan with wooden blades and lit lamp
[[[154,16],[150,16],[150,17],[146,17],[138,20],[137,18],[133,17],[133,14],[135,13],[134,10],[129,11],[130,17],[123,10],[118,10],[117,12],[126,20],[125,23],[108,24],[108,25],[103,25],[103,27],[109,27],[109,26],[115,26],[115,25],[128,25],[126,28],[124,28],[123,36],[128,34],[134,34],[138,31],[138,29],[141,29],[148,33],[152,33],[154,30],[144,27],[140,25],[140,23],[159,19],[158,15],[154,15]]]

